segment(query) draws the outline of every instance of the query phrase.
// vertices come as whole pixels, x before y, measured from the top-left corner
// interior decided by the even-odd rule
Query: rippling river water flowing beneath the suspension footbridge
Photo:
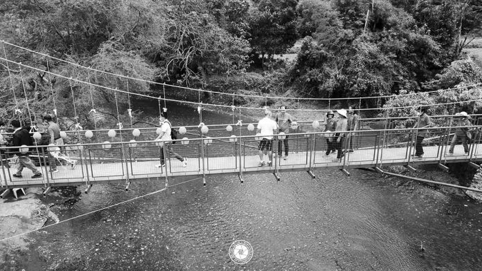
[[[173,125],[197,124],[179,108]],[[211,123],[229,115],[204,113]],[[188,123],[186,123],[188,122]],[[209,176],[202,180],[95,185],[61,221],[28,236],[26,270],[481,270],[482,207],[428,187],[352,169]],[[187,183],[183,183],[187,182]],[[233,241],[253,247],[237,265]],[[421,246],[423,250],[421,250]],[[19,269],[21,270],[21,269]]]

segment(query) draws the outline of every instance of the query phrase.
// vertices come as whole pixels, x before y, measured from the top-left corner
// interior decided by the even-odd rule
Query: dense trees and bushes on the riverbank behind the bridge
[[[236,105],[276,106],[270,96],[293,97],[294,104],[297,97],[396,95],[481,81],[482,60],[476,50],[482,45],[480,38],[474,39],[481,35],[480,0],[5,0],[0,10],[0,37],[12,44],[143,80],[267,96],[236,97]],[[158,84],[127,81],[4,47],[2,57],[40,71],[163,95]],[[288,53],[293,57],[284,60]],[[100,118],[89,114],[92,106],[116,114],[112,91],[7,66],[5,61],[0,82],[0,118],[12,118],[18,106],[28,119],[24,88],[34,117],[51,113],[54,100],[59,115],[71,122],[75,100],[84,127]],[[463,88],[471,97],[479,97],[480,88],[476,90]],[[233,103],[230,96],[198,96],[179,88],[166,88],[166,95]],[[425,101],[469,99],[467,95],[450,93]],[[121,112],[136,99],[125,94],[117,98]]]

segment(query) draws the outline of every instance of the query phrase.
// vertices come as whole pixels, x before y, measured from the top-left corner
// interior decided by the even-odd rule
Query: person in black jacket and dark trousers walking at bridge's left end
[[[22,145],[32,146],[32,138],[30,138],[30,133],[24,128],[21,128],[21,124],[18,120],[12,120],[12,127],[15,129],[13,132],[12,143],[14,147],[21,147]],[[22,178],[21,171],[24,167],[33,171],[32,178],[42,178],[42,173],[33,165],[32,160],[28,157],[28,151],[22,152],[21,149],[16,149],[17,156],[19,158],[19,166],[17,168],[17,173],[13,174],[14,177]]]

